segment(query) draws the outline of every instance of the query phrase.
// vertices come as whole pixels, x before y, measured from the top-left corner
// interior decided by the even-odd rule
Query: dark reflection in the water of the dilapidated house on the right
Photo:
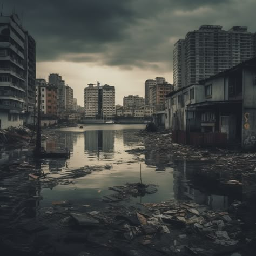
[[[200,173],[198,162],[176,160],[173,162],[173,191],[176,199],[191,199],[214,210],[226,209],[233,200],[241,200],[239,187],[223,186],[215,178]]]

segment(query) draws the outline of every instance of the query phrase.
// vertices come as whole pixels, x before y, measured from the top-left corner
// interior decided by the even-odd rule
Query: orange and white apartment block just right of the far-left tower
[[[36,106],[38,106],[39,88],[42,114],[57,116],[57,86],[47,83],[45,79],[36,79]]]

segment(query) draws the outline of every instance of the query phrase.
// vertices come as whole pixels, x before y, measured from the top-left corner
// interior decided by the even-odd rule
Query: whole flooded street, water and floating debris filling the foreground
[[[44,130],[42,146],[69,148],[68,159],[35,159],[28,143],[2,147],[4,255],[253,255],[255,173],[237,170],[253,169],[254,155],[144,129]]]

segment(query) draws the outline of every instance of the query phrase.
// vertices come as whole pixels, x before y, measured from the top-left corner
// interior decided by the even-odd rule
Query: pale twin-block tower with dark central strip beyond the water
[[[114,86],[93,86],[84,89],[85,118],[110,119],[116,113]]]

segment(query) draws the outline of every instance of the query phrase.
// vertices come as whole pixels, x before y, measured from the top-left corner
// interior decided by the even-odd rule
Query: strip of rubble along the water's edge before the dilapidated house
[[[170,154],[174,159],[185,159],[186,161],[198,161],[211,163],[203,171],[208,173],[228,173],[233,179],[241,176],[241,173],[256,171],[256,153],[242,153],[224,149],[202,149],[190,145],[172,143],[171,133],[147,133],[140,131],[134,134],[143,140],[145,147],[126,150],[137,156],[141,154],[159,153]],[[153,145],[153,146],[152,146]],[[241,177],[240,177],[241,179]]]

